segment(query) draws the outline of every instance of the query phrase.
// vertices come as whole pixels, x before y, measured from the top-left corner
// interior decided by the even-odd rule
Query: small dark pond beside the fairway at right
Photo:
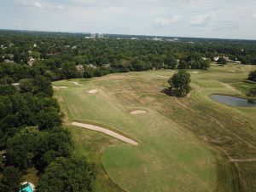
[[[233,107],[256,107],[255,100],[243,99],[236,96],[212,95],[211,98],[215,102],[220,102]]]

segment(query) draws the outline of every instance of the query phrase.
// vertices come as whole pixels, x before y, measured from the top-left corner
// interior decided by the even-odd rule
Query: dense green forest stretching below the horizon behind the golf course
[[[49,74],[52,80],[90,78],[108,73],[148,69],[207,69],[214,56],[256,64],[253,41],[192,39],[195,42],[156,42],[147,39],[85,39],[82,34],[0,32],[0,63],[13,61],[16,74]],[[27,62],[31,59],[32,69]],[[221,60],[221,59],[220,59]],[[1,71],[5,70],[1,64]],[[77,66],[80,65],[80,69]],[[9,72],[10,73],[10,72]],[[15,79],[14,79],[15,81]]]

